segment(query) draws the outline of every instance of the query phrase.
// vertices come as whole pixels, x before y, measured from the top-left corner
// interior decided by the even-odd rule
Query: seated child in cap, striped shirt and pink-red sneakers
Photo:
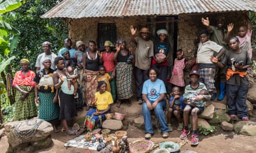
[[[187,136],[190,134],[189,128],[188,128],[188,121],[189,121],[189,113],[192,114],[192,122],[193,122],[193,132],[191,136],[191,145],[197,145],[198,144],[198,135],[197,135],[197,114],[202,113],[204,111],[204,107],[206,105],[206,100],[211,99],[211,95],[198,95],[202,90],[207,90],[205,85],[203,83],[199,83],[198,79],[200,77],[200,74],[197,72],[197,70],[193,70],[189,73],[190,77],[190,84],[185,87],[185,93],[183,95],[184,103],[186,104],[186,107],[184,108],[184,129],[182,130],[181,135],[179,136],[179,139],[186,139]],[[198,96],[194,97],[194,101],[197,101],[198,104],[190,103],[189,97],[190,95],[194,93]],[[202,101],[202,103],[199,103],[199,101]]]

